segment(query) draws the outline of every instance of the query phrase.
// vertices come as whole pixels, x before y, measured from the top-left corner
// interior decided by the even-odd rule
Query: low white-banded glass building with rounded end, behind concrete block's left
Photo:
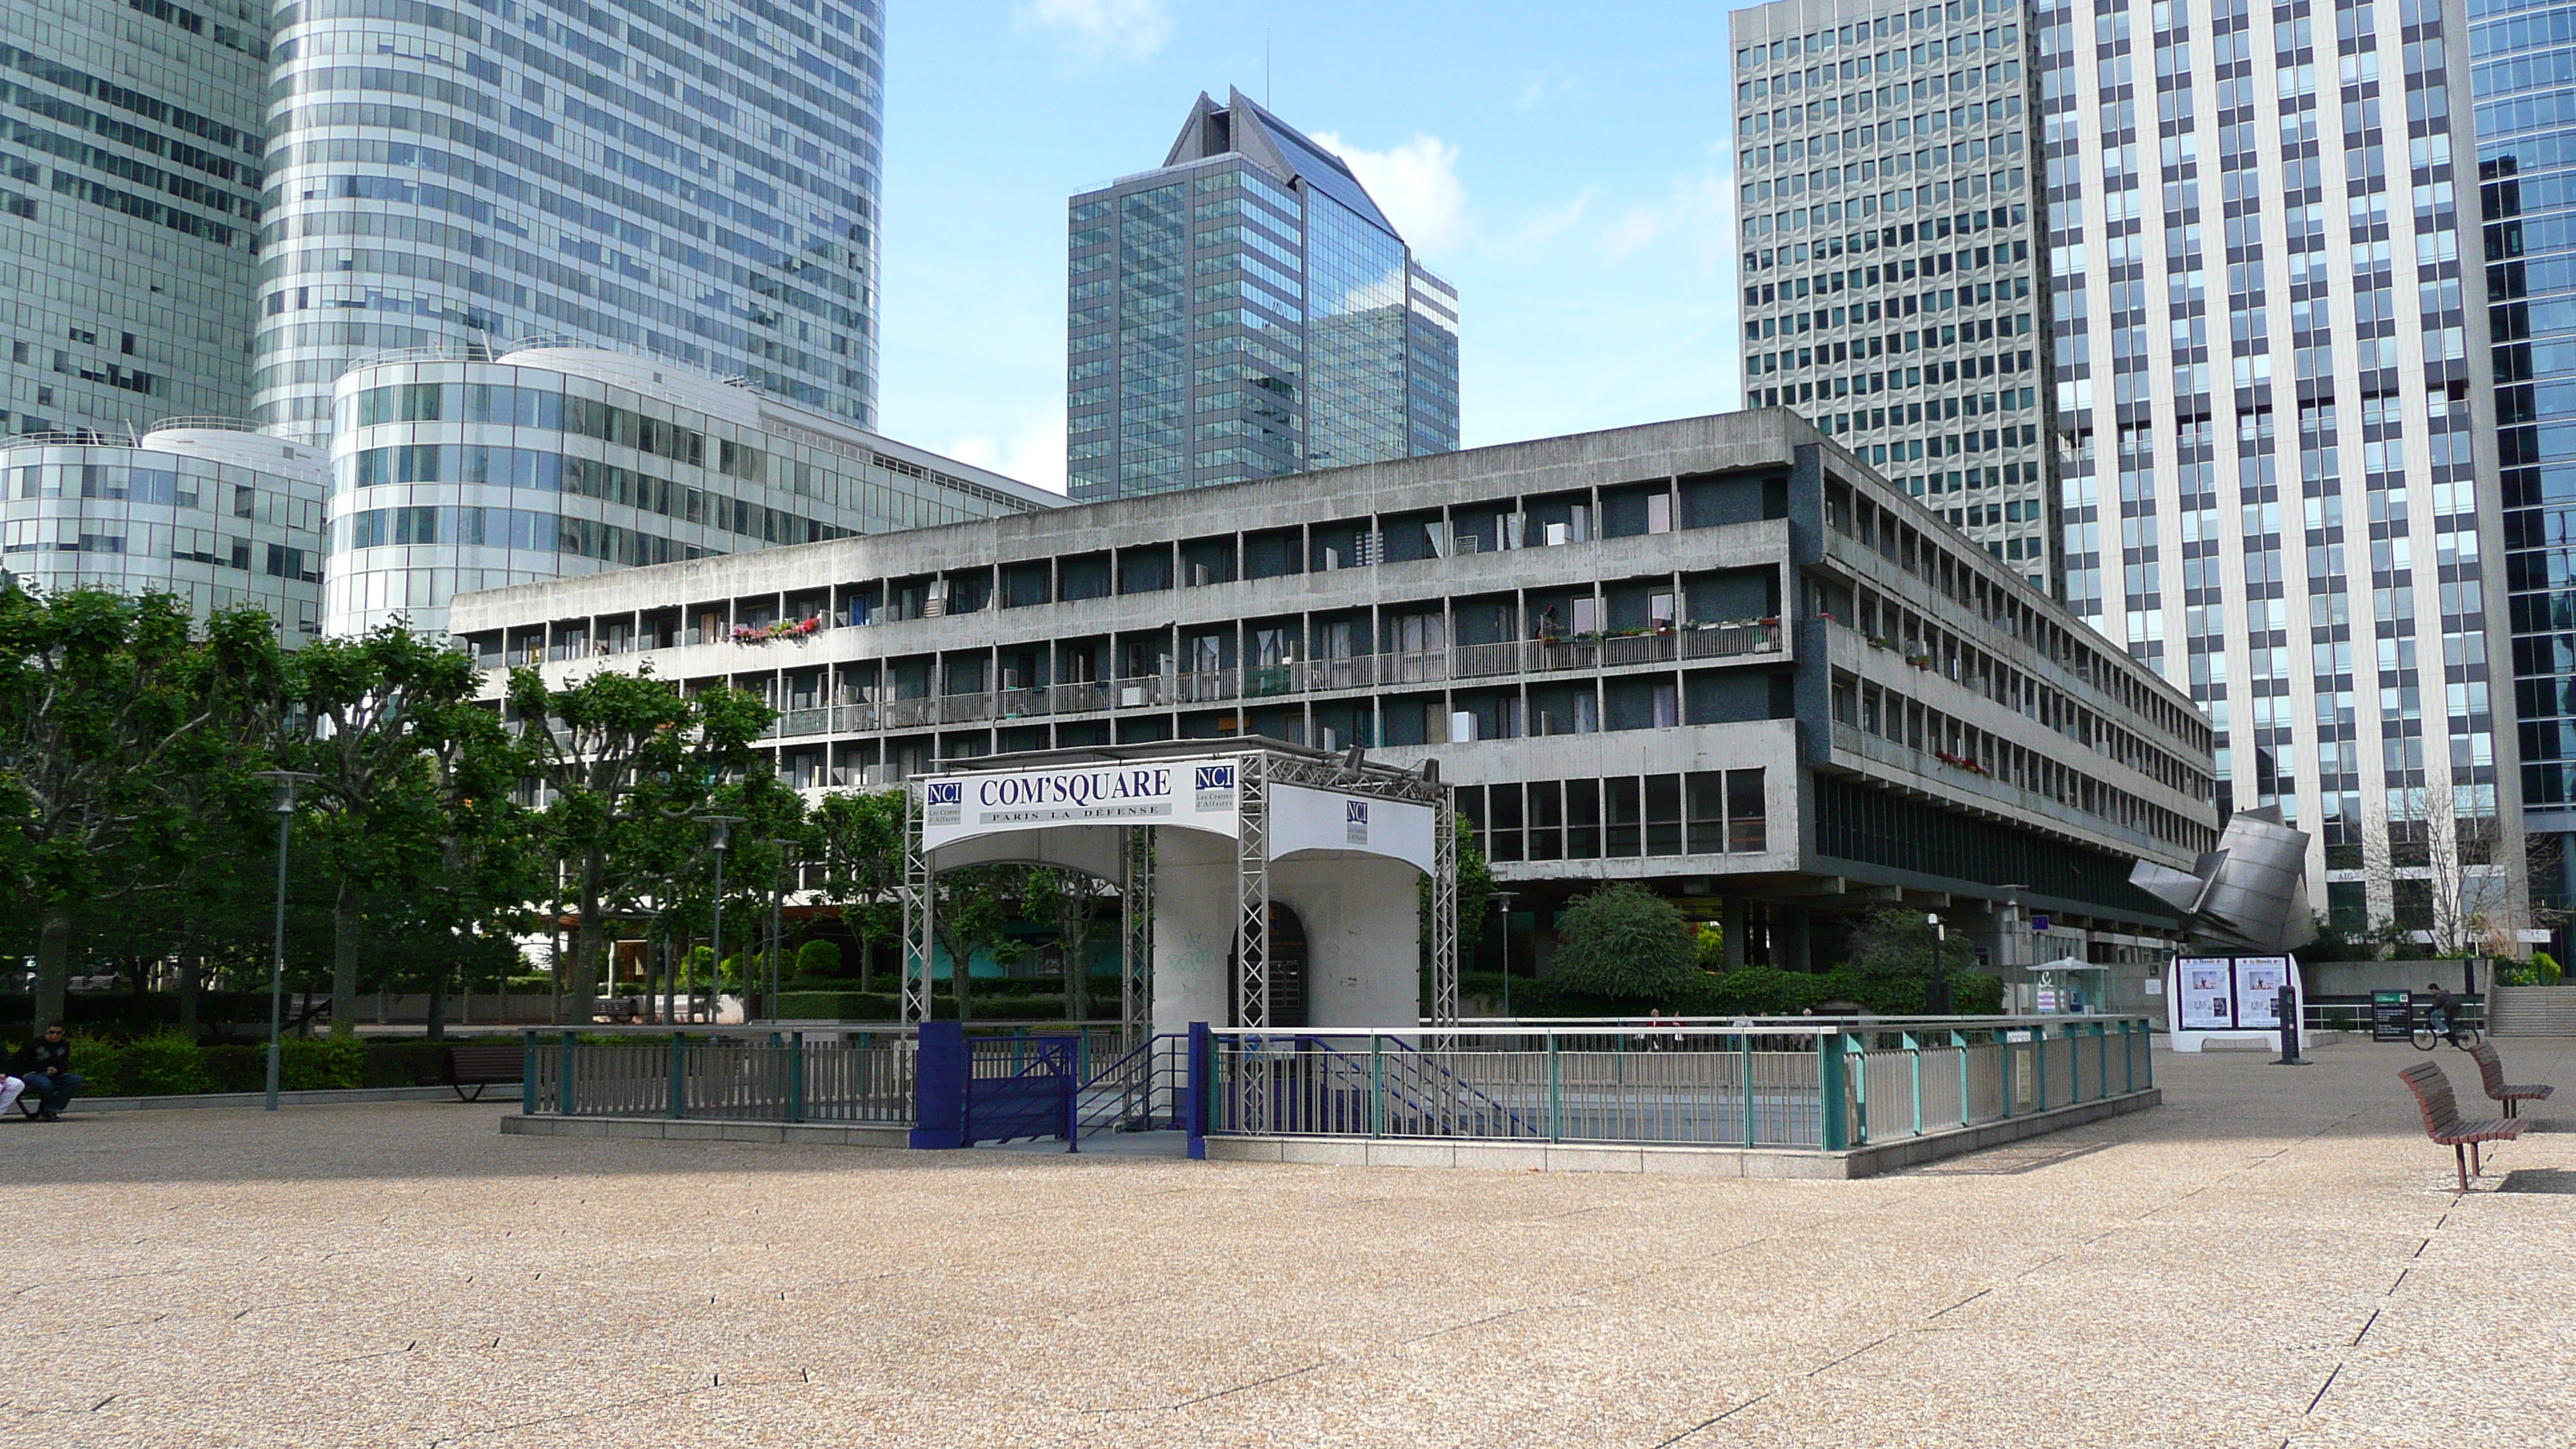
[[[448,598],[1064,503],[647,358],[355,366],[335,392],[325,629]]]

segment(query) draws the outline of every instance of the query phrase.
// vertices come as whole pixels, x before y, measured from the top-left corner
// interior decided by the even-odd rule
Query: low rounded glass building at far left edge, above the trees
[[[21,438],[0,446],[0,567],[36,588],[175,593],[198,619],[255,603],[299,645],[319,632],[322,469],[304,443],[222,428]]]

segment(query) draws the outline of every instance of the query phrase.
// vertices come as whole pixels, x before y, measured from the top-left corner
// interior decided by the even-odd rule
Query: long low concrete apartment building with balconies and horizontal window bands
[[[531,583],[451,629],[495,694],[757,691],[804,789],[1247,735],[1437,761],[1540,938],[1605,877],[1783,964],[1911,902],[2115,1006],[2174,936],[2130,861],[2218,828],[2182,691],[1785,410]]]

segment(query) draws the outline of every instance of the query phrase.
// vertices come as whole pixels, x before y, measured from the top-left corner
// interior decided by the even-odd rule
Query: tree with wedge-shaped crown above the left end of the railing
[[[611,905],[654,877],[657,856],[667,864],[670,838],[690,812],[719,802],[729,776],[760,771],[768,779],[752,740],[778,712],[734,688],[683,696],[652,668],[598,670],[564,688],[518,668],[507,714],[528,750],[528,773],[546,794],[546,843],[567,866],[577,926],[562,990],[587,1016],[608,954]],[[685,828],[703,835],[703,825]]]

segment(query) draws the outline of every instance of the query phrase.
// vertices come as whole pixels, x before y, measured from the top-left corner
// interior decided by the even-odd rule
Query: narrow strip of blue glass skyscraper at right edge
[[[2576,900],[2576,5],[2470,0],[2532,892]],[[2566,949],[2566,938],[2561,938]]]

